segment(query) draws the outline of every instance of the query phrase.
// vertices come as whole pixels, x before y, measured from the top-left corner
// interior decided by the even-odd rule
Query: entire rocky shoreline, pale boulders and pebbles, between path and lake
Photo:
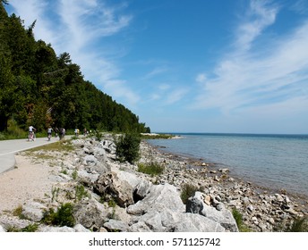
[[[238,231],[232,210],[240,212],[247,229],[283,229],[307,215],[307,201],[286,192],[271,193],[215,169],[206,162],[168,154],[141,142],[141,163],[165,167],[159,176],[141,173],[137,165],[116,161],[113,137],[104,134],[74,139],[73,150],[21,153],[47,164],[54,185],[49,194],[33,197],[14,211],[0,214],[0,231]],[[44,157],[43,157],[44,156]],[[200,191],[183,204],[184,185]],[[73,225],[46,223],[47,212],[73,204]],[[62,207],[63,208],[63,207]],[[61,223],[60,223],[61,224]]]

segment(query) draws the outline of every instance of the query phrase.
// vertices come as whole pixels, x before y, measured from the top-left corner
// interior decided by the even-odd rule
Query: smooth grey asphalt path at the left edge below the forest
[[[59,138],[52,137],[48,141],[47,137],[36,138],[35,141],[27,139],[0,141],[0,174],[13,169],[15,165],[15,154],[33,147],[47,145],[58,141]]]

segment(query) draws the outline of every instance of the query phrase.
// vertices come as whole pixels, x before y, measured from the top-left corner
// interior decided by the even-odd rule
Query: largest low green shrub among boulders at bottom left
[[[42,222],[47,225],[73,227],[75,224],[75,220],[73,218],[73,204],[62,204],[58,207],[56,212],[54,209],[50,208],[44,212]]]

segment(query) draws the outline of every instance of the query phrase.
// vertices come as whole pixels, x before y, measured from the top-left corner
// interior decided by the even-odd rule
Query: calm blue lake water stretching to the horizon
[[[177,134],[150,140],[168,152],[227,167],[262,187],[308,196],[308,135]]]

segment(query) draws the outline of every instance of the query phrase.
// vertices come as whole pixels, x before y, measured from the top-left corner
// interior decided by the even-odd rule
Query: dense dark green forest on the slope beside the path
[[[32,125],[107,131],[150,132],[139,117],[83,79],[70,54],[56,55],[50,44],[34,38],[35,21],[25,28],[0,0],[0,132],[9,121]]]

